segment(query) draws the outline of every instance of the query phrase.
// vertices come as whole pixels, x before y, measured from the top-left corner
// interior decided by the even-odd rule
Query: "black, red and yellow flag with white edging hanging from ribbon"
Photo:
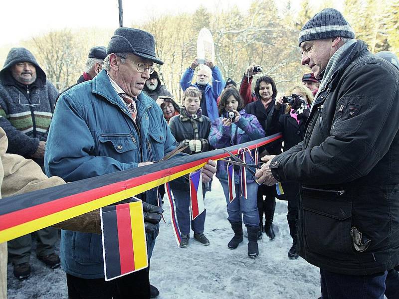
[[[105,280],[148,267],[143,202],[101,208]]]

